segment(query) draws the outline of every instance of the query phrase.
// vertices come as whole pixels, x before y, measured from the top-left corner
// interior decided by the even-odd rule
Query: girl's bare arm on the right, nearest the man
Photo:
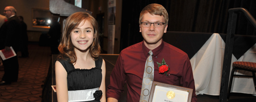
[[[100,86],[100,90],[102,91],[102,97],[100,99],[101,102],[106,102],[106,86],[105,86],[105,76],[106,76],[106,64],[105,61],[103,59],[102,61],[102,81],[101,81],[101,86]]]

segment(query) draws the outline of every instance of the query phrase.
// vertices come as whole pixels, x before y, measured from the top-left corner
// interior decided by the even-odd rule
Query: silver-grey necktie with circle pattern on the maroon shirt
[[[148,102],[151,86],[154,81],[154,61],[152,58],[152,50],[150,50],[148,54],[149,56],[145,64],[144,75],[142,80],[140,102]]]

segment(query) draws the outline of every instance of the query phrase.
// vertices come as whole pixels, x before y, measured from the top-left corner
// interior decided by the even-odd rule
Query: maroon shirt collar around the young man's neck
[[[163,49],[163,46],[164,46],[164,43],[162,40],[161,44],[152,50],[153,57],[157,56],[161,52],[161,50]],[[142,41],[142,50],[143,50],[145,57],[148,57],[148,55],[149,55],[148,52],[150,51],[150,49],[148,49],[148,47],[146,47],[146,45],[144,44],[144,40]]]

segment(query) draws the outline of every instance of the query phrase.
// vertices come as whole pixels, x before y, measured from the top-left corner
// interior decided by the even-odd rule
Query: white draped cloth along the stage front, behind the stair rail
[[[225,42],[218,33],[206,41],[200,50],[190,59],[196,94],[219,95],[224,58]],[[231,64],[235,61],[256,62],[256,44],[241,58],[232,55]],[[230,73],[232,65],[230,68]],[[252,75],[247,71],[236,71],[243,75]],[[252,78],[234,77],[231,92],[256,94]]]

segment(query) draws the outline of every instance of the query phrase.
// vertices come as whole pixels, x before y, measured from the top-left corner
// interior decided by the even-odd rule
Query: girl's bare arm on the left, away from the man
[[[68,102],[67,72],[59,61],[55,63],[56,92],[58,102]]]

